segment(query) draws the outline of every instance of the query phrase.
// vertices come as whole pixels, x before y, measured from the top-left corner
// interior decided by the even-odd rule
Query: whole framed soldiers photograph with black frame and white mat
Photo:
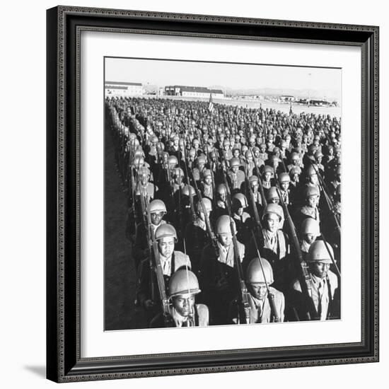
[[[378,361],[378,27],[47,11],[47,378]]]

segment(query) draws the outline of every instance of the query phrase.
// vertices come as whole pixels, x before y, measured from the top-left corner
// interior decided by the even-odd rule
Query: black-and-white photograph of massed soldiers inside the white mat
[[[105,57],[103,83],[105,331],[342,320],[342,69]]]

